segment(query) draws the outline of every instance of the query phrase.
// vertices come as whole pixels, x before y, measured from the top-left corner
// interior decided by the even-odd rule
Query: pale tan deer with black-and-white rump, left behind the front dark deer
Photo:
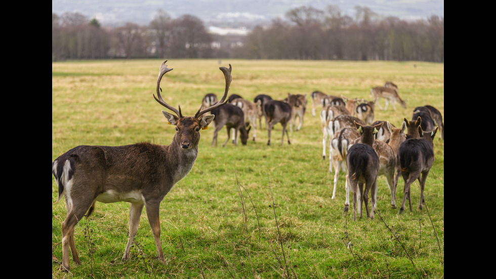
[[[329,172],[332,172],[334,166],[334,189],[332,200],[336,197],[336,189],[338,188],[339,172],[346,172],[346,154],[348,146],[354,139],[359,138],[360,134],[356,128],[343,128],[336,132],[333,139],[330,141],[329,148]],[[346,189],[347,186],[345,186]]]

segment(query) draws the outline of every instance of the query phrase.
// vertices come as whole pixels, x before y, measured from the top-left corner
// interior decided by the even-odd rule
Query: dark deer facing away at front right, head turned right
[[[419,138],[407,139],[399,146],[397,160],[399,161],[401,175],[405,181],[405,186],[403,188],[403,203],[400,207],[400,213],[403,213],[405,209],[407,198],[410,211],[412,211],[410,185],[415,180],[419,180],[420,183],[419,209],[422,210],[425,182],[432,165],[434,165],[433,139],[436,132],[437,127],[431,132],[424,132],[422,127],[419,127]]]

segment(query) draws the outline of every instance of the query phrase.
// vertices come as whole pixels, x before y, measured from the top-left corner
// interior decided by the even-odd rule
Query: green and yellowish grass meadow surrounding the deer
[[[170,144],[174,126],[154,98],[163,60],[52,63],[52,161],[70,148]],[[60,270],[61,223],[66,209],[52,176],[52,277],[95,278],[442,278],[444,277],[444,141],[436,135],[435,162],[427,178],[426,206],[419,210],[419,184],[412,184],[413,211],[399,214],[403,179],[390,206],[386,180],[378,180],[375,219],[344,212],[345,175],[331,199],[334,173],[322,159],[322,130],[311,115],[310,93],[370,100],[370,88],[392,81],[406,108],[376,106],[375,119],[399,127],[416,106],[432,105],[444,118],[444,64],[385,61],[296,61],[171,59],[161,82],[162,97],[193,115],[206,93],[222,96],[219,66],[232,65],[229,94],[253,100],[258,94],[283,99],[307,94],[303,129],[281,140],[281,126],[267,145],[265,125],[256,141],[225,147],[227,132],[211,146],[212,127],[200,132],[191,172],[160,205],[166,263],[157,260],[143,211],[131,259],[126,247],[129,204],[97,203],[76,226],[81,265]],[[380,101],[384,107],[384,100]],[[444,119],[443,119],[444,121]],[[252,131],[250,132],[250,136]],[[328,145],[327,145],[328,146]]]

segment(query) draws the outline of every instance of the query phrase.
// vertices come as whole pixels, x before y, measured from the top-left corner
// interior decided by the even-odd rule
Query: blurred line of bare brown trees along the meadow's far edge
[[[444,18],[405,21],[356,6],[300,7],[245,36],[216,35],[193,15],[159,10],[148,25],[102,27],[79,13],[52,13],[52,61],[111,58],[415,60],[444,62]]]

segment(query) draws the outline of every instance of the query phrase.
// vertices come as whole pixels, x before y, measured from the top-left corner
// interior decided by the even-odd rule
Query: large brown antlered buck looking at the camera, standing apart
[[[74,147],[60,155],[52,163],[52,173],[59,188],[59,198],[65,196],[67,217],[62,223],[62,267],[69,270],[69,249],[72,259],[80,264],[74,242],[74,226],[85,214],[95,209],[95,203],[131,203],[128,244],[122,260],[128,260],[131,245],[138,231],[143,207],[155,240],[158,259],[165,261],[160,244],[159,206],[171,188],[185,177],[196,160],[200,129],[212,122],[213,115],[206,112],[224,105],[231,83],[229,69],[220,67],[226,79],[226,88],[220,102],[205,109],[198,109],[194,116],[183,116],[163,101],[160,95],[160,79],[168,71],[163,62],[157,79],[155,100],[176,115],[163,111],[168,122],[176,126],[176,134],[170,145],[137,143],[125,146]]]

